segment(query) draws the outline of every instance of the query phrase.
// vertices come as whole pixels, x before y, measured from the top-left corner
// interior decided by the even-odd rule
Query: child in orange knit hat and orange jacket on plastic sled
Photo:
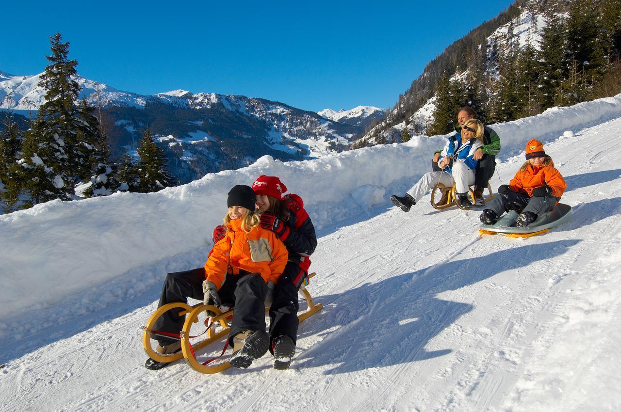
[[[498,195],[479,218],[485,225],[493,225],[502,213],[515,210],[520,213],[515,226],[525,228],[541,213],[552,210],[566,187],[552,158],[543,151],[543,143],[532,139],[526,144],[526,163],[508,185],[498,188]]]

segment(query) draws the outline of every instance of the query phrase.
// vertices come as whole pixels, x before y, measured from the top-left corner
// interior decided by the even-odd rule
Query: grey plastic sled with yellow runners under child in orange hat
[[[481,233],[481,235],[502,233],[512,238],[529,238],[530,236],[541,235],[551,228],[568,222],[569,217],[571,217],[573,213],[574,211],[571,206],[560,203],[550,212],[543,213],[535,222],[525,228],[516,228],[514,225],[518,213],[512,210],[501,217],[494,225],[481,225],[479,233]]]

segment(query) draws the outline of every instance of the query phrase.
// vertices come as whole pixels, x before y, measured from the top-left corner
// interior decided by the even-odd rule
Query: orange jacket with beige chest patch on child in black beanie
[[[231,220],[227,235],[214,244],[209,254],[205,263],[205,278],[220,289],[230,266],[234,275],[242,269],[261,274],[265,282],[271,280],[276,283],[287,264],[288,254],[273,231],[258,226],[246,233],[242,230],[242,219]]]

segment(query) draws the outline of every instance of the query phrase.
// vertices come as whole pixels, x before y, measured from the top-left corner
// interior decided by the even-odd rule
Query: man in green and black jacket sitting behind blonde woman
[[[455,127],[457,132],[456,137],[461,137],[461,127],[467,120],[476,119],[476,112],[470,106],[464,106],[457,112],[458,126]],[[438,166],[438,160],[440,159],[440,152],[442,150],[435,151],[432,160],[433,171],[442,171]],[[496,170],[496,155],[501,151],[501,138],[498,137],[498,133],[494,132],[492,128],[485,127],[485,133],[483,135],[483,146],[478,148],[474,152],[473,159],[479,161],[479,165],[476,167],[476,174],[474,176],[474,205],[483,206],[485,204],[483,200],[483,190],[487,187],[487,182],[494,176],[494,170]],[[446,204],[448,200],[448,190],[442,194],[442,199],[438,202],[438,205]]]

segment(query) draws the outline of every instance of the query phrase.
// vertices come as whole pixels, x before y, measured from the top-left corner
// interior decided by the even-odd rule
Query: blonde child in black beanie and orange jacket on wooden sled
[[[206,305],[232,303],[235,312],[229,334],[233,346],[230,364],[247,368],[270,346],[265,331],[266,284],[278,282],[288,253],[273,231],[260,227],[252,187],[233,187],[227,206],[225,236],[214,244],[204,268],[168,274],[159,307],[169,302],[187,302],[187,296],[202,299]],[[170,312],[162,315],[154,327],[179,333],[183,317]],[[179,349],[179,342],[160,340],[156,350],[168,354]]]

